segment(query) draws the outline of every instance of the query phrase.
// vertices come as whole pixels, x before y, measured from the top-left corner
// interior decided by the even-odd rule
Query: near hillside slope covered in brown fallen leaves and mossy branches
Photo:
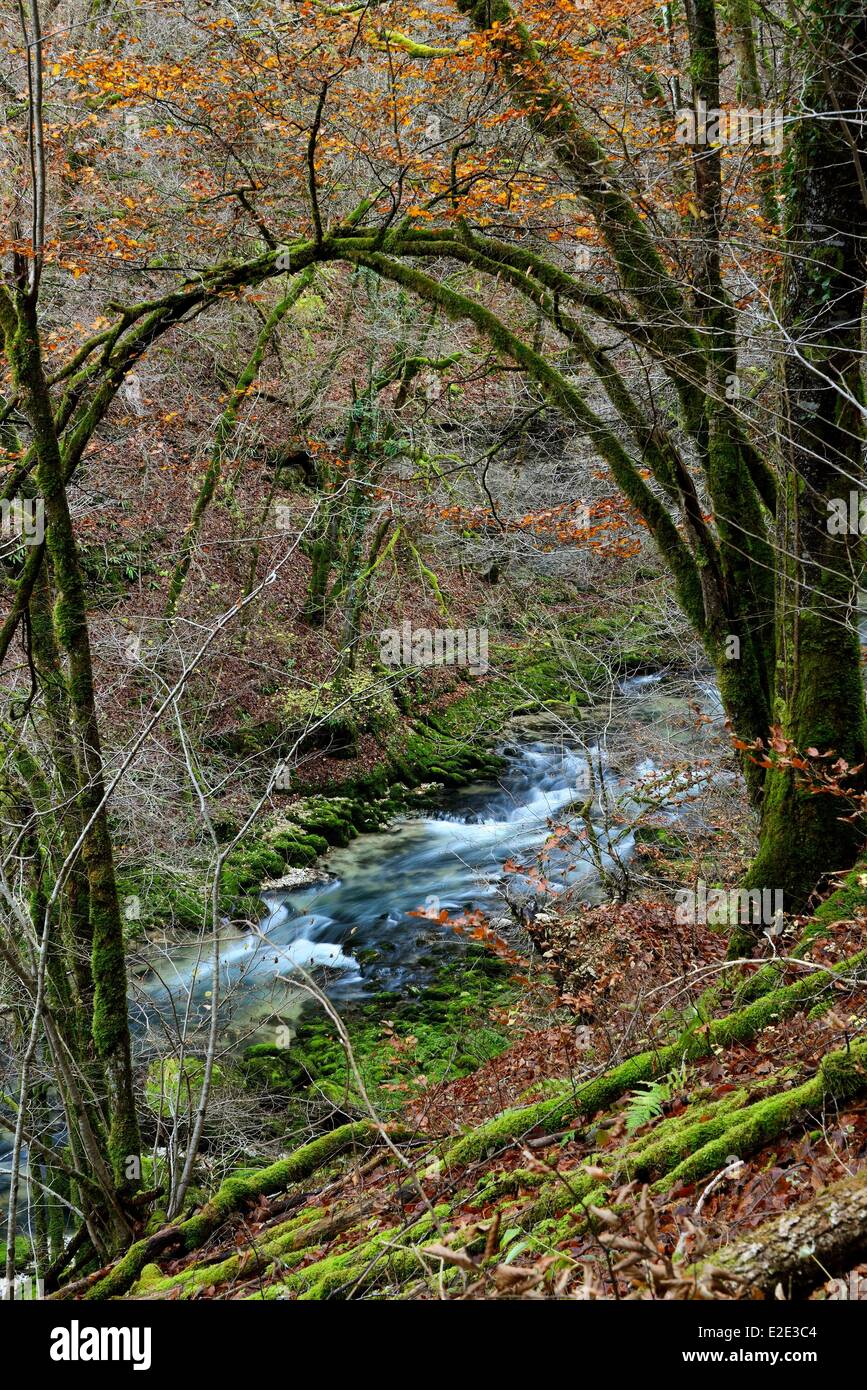
[[[863,1297],[827,1233],[736,1269],[867,1161],[867,874],[757,944],[764,965],[646,902],[539,930],[552,976],[497,1056],[388,1125],[350,1080],[343,1123],[60,1297]],[[588,965],[577,1009],[553,981]]]

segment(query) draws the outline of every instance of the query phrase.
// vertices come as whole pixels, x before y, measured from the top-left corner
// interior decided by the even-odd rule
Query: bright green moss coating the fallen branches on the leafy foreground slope
[[[852,970],[852,965],[846,962],[841,969]],[[749,1029],[760,1027],[770,1019],[778,1017],[781,1012],[803,1006],[810,997],[803,986],[810,983],[813,990],[821,990],[834,977],[834,972],[823,972],[823,976],[824,980],[811,976],[809,981],[798,981],[798,987],[775,991],[773,1001],[756,1001],[749,1009],[742,1011],[745,1017],[736,1024],[728,1019],[717,1020],[710,1026],[710,1041],[716,1041],[713,1030],[718,1026],[725,1026],[725,1036],[729,1038],[742,1037]],[[709,1038],[688,1033],[672,1047],[688,1054],[693,1042],[706,1049]],[[656,1054],[657,1069],[664,1063],[664,1052],[666,1049],[660,1049]],[[628,1059],[607,1077],[599,1077],[579,1087],[577,1093],[546,1097],[536,1105],[504,1112],[450,1145],[445,1155],[446,1162],[465,1163],[484,1158],[492,1148],[513,1143],[535,1125],[545,1129],[556,1125],[564,1118],[564,1106],[572,1112],[589,1111],[600,1104],[603,1093],[609,1099],[611,1095],[622,1094],[631,1088],[627,1083],[635,1076],[632,1065],[638,1063],[642,1069],[649,1065],[649,1056],[645,1054]],[[520,1195],[527,1188],[540,1188],[536,1200],[513,1219],[528,1233],[532,1250],[550,1251],[559,1243],[572,1240],[591,1222],[588,1215],[591,1207],[610,1204],[613,1186],[624,1180],[654,1180],[653,1190],[664,1193],[681,1183],[697,1182],[725,1166],[732,1154],[746,1156],[757,1152],[800,1116],[817,1115],[829,1104],[867,1093],[867,1042],[861,1041],[846,1051],[829,1054],[816,1074],[799,1086],[788,1087],[786,1081],[788,1074],[782,1070],[757,1081],[752,1088],[745,1086],[722,1097],[699,1093],[684,1113],[660,1119],[652,1130],[625,1143],[614,1154],[585,1159],[588,1165],[602,1163],[609,1169],[610,1176],[603,1182],[596,1173],[591,1175],[585,1166],[557,1173],[553,1179],[546,1179],[535,1170],[520,1169],[486,1173],[472,1193],[460,1195],[460,1204],[479,1209],[496,1205],[503,1198]],[[603,1093],[599,1090],[599,1083],[604,1083]],[[763,1094],[770,1090],[774,1094]],[[201,1212],[179,1225],[183,1248],[199,1248],[228,1215],[238,1211],[242,1201],[263,1191],[282,1190],[289,1180],[302,1180],[311,1166],[329,1162],[346,1144],[364,1141],[365,1134],[372,1138],[375,1129],[367,1125],[343,1126],[340,1131],[306,1145],[281,1165],[272,1165],[250,1177],[229,1179]],[[425,1265],[418,1258],[417,1247],[425,1237],[434,1234],[435,1222],[429,1213],[424,1213],[408,1230],[379,1229],[370,1238],[361,1238],[358,1244],[329,1251],[311,1264],[303,1264],[302,1251],[313,1247],[320,1236],[324,1238],[333,1236],[331,1226],[325,1232],[315,1225],[314,1218],[318,1215],[300,1212],[265,1233],[256,1252],[236,1251],[218,1265],[196,1264],[174,1276],[171,1286],[163,1283],[154,1287],[161,1293],[168,1287],[176,1287],[182,1291],[182,1297],[188,1297],[211,1283],[264,1270],[270,1279],[278,1272],[281,1277],[276,1283],[257,1290],[253,1297],[297,1297],[318,1301],[343,1297],[350,1291],[354,1294],[361,1289],[388,1297],[414,1276],[425,1276]],[[329,1222],[335,1216],[339,1219],[339,1211],[329,1209]],[[450,1216],[449,1207],[436,1209],[436,1220],[445,1220],[447,1216]],[[357,1225],[352,1213],[350,1225]],[[450,1227],[452,1225],[450,1220]],[[478,1244],[479,1240],[472,1229],[463,1233],[463,1243],[468,1250],[475,1248],[474,1241]],[[143,1258],[142,1265],[144,1262]]]

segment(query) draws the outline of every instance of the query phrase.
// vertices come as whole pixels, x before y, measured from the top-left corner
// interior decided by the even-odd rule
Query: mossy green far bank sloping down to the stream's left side
[[[549,726],[568,724],[609,688],[611,670],[622,678],[679,663],[681,649],[660,646],[650,616],[639,612],[628,619],[572,613],[557,617],[554,635],[549,628],[531,628],[520,641],[492,642],[485,676],[456,669],[382,669],[375,701],[368,684],[360,685],[357,756],[333,749],[328,726],[303,748],[290,790],[274,790],[270,806],[231,853],[221,910],[229,922],[256,922],[263,884],[293,870],[303,874],[356,835],[379,830],[406,812],[435,806],[443,792],[495,777],[503,769],[496,746],[510,719],[540,716]],[[434,691],[425,684],[431,676]],[[264,787],[274,763],[302,733],[303,726],[293,724],[288,713],[283,726],[242,726],[215,741],[214,780],[229,788],[211,813],[221,842],[238,833],[249,812],[249,803],[232,791],[232,767],[243,764],[254,773],[258,766]],[[183,840],[181,828],[178,838]],[[203,930],[208,862],[207,852],[190,842],[183,858],[160,873],[149,863],[119,870],[133,947],[139,940],[164,944]]]

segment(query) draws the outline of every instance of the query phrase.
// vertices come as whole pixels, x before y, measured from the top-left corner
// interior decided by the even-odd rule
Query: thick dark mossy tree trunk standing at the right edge
[[[803,44],[803,114],[788,157],[781,289],[781,457],[775,720],[802,753],[864,760],[864,689],[854,623],[863,564],[864,398],[860,374],[867,204],[864,132],[838,113],[867,82],[867,18],[814,0]],[[810,114],[816,113],[816,114]],[[845,505],[846,521],[832,505]],[[839,534],[838,534],[839,532]],[[767,777],[750,884],[802,906],[848,866],[859,830],[846,803],[816,796],[791,769]]]

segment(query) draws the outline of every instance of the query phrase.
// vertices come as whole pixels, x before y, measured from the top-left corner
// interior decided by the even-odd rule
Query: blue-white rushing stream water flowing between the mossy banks
[[[689,687],[689,695],[716,713],[711,685]],[[532,865],[556,823],[570,820],[572,803],[588,798],[588,755],[600,763],[606,798],[627,813],[636,790],[653,776],[652,759],[636,748],[635,726],[664,733],[668,746],[689,752],[691,721],[684,720],[682,687],[661,676],[638,676],[621,684],[614,702],[617,719],[634,727],[614,760],[603,744],[584,733],[593,724],[585,714],[572,731],[556,731],[556,721],[515,720],[500,751],[506,767],[496,783],[477,783],[443,799],[442,808],[408,815],[388,830],[360,835],[346,849],[333,849],[324,867],[331,881],[265,898],[268,913],[254,933],[226,934],[221,944],[221,1024],[226,1041],[263,1034],[288,1023],[299,1011],[299,967],[314,973],[338,1005],[378,991],[424,986],[443,956],[459,949],[459,938],[440,912],[454,917],[481,909],[502,917],[500,888],[511,901],[531,899],[534,887],[517,869]],[[597,734],[599,738],[599,734]],[[622,738],[621,738],[622,742]],[[641,739],[638,739],[641,742]],[[695,751],[695,749],[693,749]],[[682,792],[686,792],[684,785]],[[679,813],[674,798],[670,815]],[[572,813],[574,819],[574,813]],[[634,835],[627,826],[606,824],[602,798],[593,821],[606,867],[617,855],[627,860]],[[549,890],[565,888],[584,901],[600,895],[599,876],[589,856],[572,844],[549,852],[545,866]],[[204,948],[206,951],[210,947]],[[171,1011],[204,1023],[213,999],[213,965],[200,947],[174,948],[158,962],[158,979],[143,981],[143,1015],[170,1022]]]

